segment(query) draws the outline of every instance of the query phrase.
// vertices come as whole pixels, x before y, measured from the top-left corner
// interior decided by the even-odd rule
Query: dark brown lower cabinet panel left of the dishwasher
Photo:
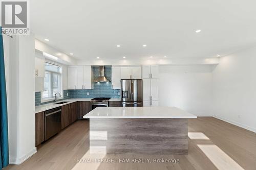
[[[45,115],[44,112],[35,114],[35,145],[45,140]]]

